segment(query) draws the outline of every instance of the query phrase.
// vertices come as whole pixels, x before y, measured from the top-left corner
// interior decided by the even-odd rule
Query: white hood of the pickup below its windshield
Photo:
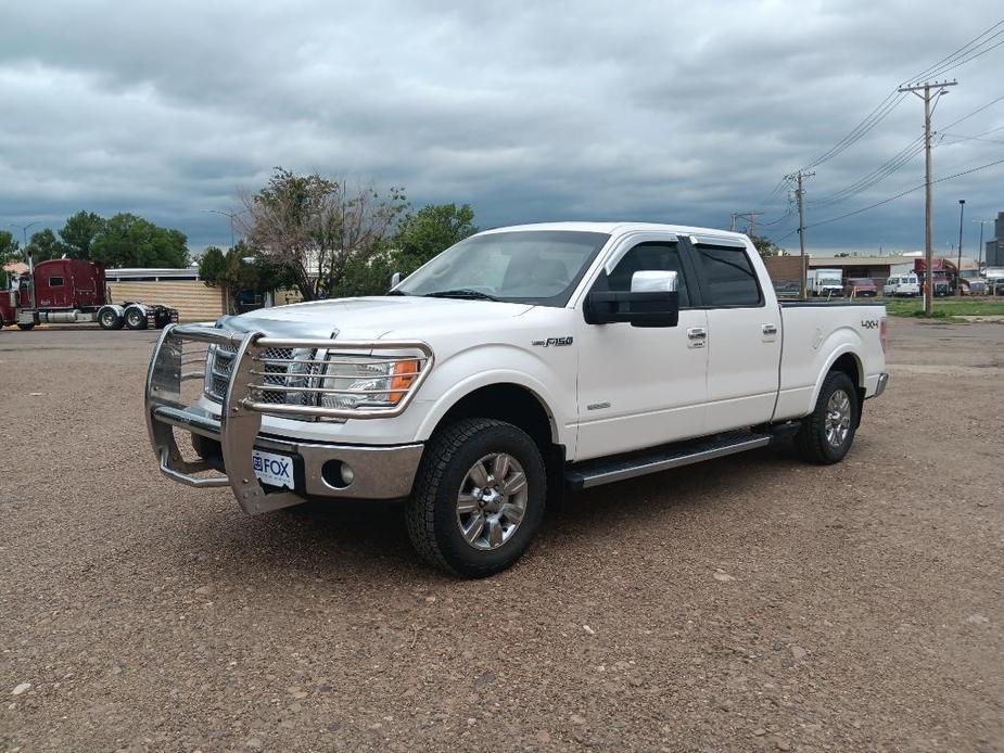
[[[240,332],[259,330],[278,336],[376,339],[394,330],[448,329],[472,320],[480,324],[522,316],[529,304],[496,303],[460,298],[376,296],[312,301],[262,308],[219,319],[219,326]]]

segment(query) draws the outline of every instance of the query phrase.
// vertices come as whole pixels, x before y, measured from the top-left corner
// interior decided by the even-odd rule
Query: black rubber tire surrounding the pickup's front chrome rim
[[[479,549],[461,533],[458,495],[473,467],[493,454],[510,456],[522,469],[525,507],[508,539],[494,549]],[[429,564],[463,577],[486,577],[522,556],[541,525],[546,498],[544,459],[530,435],[503,421],[462,419],[439,430],[425,446],[405,506],[408,536]],[[487,520],[484,512],[472,514]]]

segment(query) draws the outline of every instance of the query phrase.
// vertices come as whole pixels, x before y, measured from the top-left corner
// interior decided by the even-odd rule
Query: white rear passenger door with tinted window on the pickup
[[[740,241],[690,237],[689,245],[708,314],[707,433],[770,421],[781,344],[773,292],[762,290]]]

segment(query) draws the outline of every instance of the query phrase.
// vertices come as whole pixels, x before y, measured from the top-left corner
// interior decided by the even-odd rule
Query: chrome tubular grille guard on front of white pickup
[[[236,349],[230,381],[219,419],[199,407],[187,406],[181,399],[181,383],[190,380],[204,380],[205,359],[186,359],[182,354],[185,341],[203,343],[208,346],[224,346]],[[267,352],[277,349],[307,348],[317,356],[312,360],[332,361],[329,355],[369,356],[373,352],[407,352],[409,356],[398,356],[398,360],[411,361],[412,371],[395,372],[395,376],[409,378],[406,387],[394,387],[387,380],[387,388],[364,392],[401,394],[392,407],[332,408],[323,405],[293,405],[267,401],[275,399],[276,393],[301,395],[304,392],[318,396],[358,394],[358,390],[338,390],[322,386],[326,379],[333,379],[325,373],[313,380],[313,386],[291,388],[275,384],[275,372],[267,372],[262,365],[278,363],[282,358],[266,358]],[[419,355],[420,354],[420,355]],[[389,354],[390,355],[390,354]],[[374,362],[381,361],[379,357]],[[199,365],[198,370],[192,367]],[[263,332],[234,332],[208,324],[168,324],[164,328],[147,372],[144,410],[147,431],[153,450],[160,460],[161,472],[166,476],[195,487],[230,486],[245,512],[254,514],[276,510],[303,501],[291,492],[266,493],[254,473],[252,450],[262,429],[262,414],[269,413],[283,417],[313,417],[318,419],[381,419],[399,416],[407,409],[415,394],[432,370],[433,353],[421,341],[339,341],[334,339],[314,337],[270,337]],[[296,374],[298,378],[298,374]],[[272,382],[269,382],[269,379]],[[192,433],[213,438],[218,437],[227,475],[195,476],[193,474],[212,471],[213,467],[204,460],[188,461],[181,457],[175,441],[174,426],[181,426]]]

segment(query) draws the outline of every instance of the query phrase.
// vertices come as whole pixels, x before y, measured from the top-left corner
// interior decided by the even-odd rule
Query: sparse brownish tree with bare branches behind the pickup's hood
[[[307,301],[339,290],[350,261],[361,264],[382,252],[407,206],[398,188],[381,194],[281,167],[242,201],[249,218],[242,225],[252,245],[288,269]]]

